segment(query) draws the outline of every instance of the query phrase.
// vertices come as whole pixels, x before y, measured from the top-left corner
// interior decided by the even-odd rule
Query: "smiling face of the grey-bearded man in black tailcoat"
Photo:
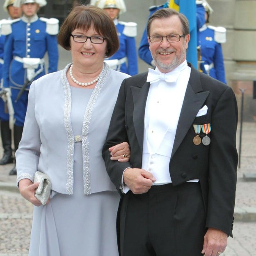
[[[186,49],[190,35],[181,37],[180,41],[169,43],[166,36],[178,34],[182,35],[182,24],[178,16],[155,19],[151,23],[149,36],[162,36],[161,43],[151,43],[149,40],[149,50],[155,61],[155,65],[162,73],[167,73],[175,69],[186,59]]]

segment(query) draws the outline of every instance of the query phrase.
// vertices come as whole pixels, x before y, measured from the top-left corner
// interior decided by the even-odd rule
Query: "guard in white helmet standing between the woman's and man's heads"
[[[119,15],[126,12],[123,0],[91,0],[91,5],[104,9],[114,21],[119,36],[119,50],[105,62],[117,71],[129,75],[138,73],[137,48],[135,37],[137,36],[137,23],[118,21]]]

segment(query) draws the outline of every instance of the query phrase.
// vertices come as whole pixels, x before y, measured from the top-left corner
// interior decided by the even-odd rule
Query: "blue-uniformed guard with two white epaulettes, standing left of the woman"
[[[3,87],[11,94],[14,107],[14,147],[18,149],[21,140],[27,97],[33,80],[45,75],[44,55],[48,53],[48,73],[57,71],[57,37],[59,21],[55,18],[39,18],[37,11],[45,6],[45,0],[15,0],[14,6],[21,6],[20,19],[2,24],[6,35]],[[10,171],[16,174],[16,166]]]

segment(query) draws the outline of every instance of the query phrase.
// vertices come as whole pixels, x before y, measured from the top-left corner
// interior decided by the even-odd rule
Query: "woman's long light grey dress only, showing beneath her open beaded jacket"
[[[74,134],[82,132],[91,92],[92,89],[71,87]],[[75,142],[73,194],[52,191],[48,205],[34,208],[29,255],[118,255],[115,217],[119,194],[108,191],[85,195],[82,162],[82,142]]]

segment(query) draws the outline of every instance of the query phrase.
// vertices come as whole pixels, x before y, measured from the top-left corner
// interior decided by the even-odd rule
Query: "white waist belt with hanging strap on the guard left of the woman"
[[[44,59],[40,58],[21,58],[18,56],[14,56],[14,60],[17,62],[23,63],[23,68],[27,69],[27,79],[29,81],[33,80],[39,73],[43,71],[43,63]],[[40,64],[40,69],[35,72],[35,69],[38,68]]]

